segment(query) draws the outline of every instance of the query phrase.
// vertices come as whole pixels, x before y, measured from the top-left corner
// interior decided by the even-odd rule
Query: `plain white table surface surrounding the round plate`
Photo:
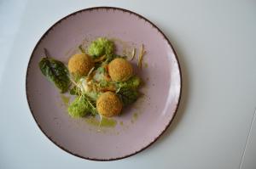
[[[52,144],[26,103],[26,65],[44,32],[82,8],[143,14],[170,38],[183,73],[171,127],[142,153],[87,161]],[[256,168],[256,3],[244,1],[0,1],[0,168]]]

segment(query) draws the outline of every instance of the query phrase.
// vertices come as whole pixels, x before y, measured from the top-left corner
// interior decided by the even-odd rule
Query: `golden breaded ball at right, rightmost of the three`
[[[126,59],[113,59],[108,65],[108,73],[114,82],[125,82],[133,74],[132,65]]]

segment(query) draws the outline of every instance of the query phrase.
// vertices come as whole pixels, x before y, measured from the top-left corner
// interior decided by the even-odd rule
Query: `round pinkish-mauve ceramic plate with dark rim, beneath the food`
[[[144,45],[143,97],[113,118],[114,125],[97,130],[85,119],[73,119],[61,94],[38,69],[44,48],[55,59],[68,58],[96,37],[113,39],[117,53]],[[33,49],[26,72],[26,95],[38,127],[54,144],[68,153],[95,161],[122,159],[146,149],[171,124],[181,93],[181,72],[171,42],[143,16],[123,8],[86,8],[57,21]],[[62,98],[63,99],[63,98]]]

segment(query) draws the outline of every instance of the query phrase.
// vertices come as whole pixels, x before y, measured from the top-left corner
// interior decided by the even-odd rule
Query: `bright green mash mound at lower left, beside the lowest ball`
[[[72,117],[83,117],[85,115],[96,115],[96,107],[86,96],[82,95],[73,100],[68,106],[68,114]]]

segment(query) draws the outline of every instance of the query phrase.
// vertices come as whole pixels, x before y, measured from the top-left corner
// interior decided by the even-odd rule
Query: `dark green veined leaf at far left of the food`
[[[61,93],[65,93],[70,85],[67,67],[58,60],[44,57],[39,62],[39,68],[50,82],[55,83]]]

